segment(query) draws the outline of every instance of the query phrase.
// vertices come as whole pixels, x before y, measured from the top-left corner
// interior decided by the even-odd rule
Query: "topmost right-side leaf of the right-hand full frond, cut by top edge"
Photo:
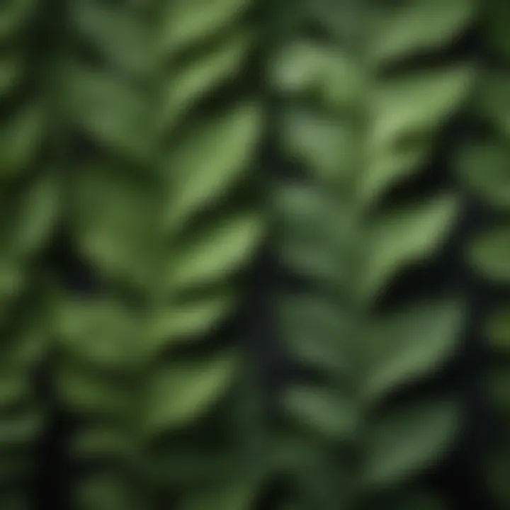
[[[381,20],[370,57],[378,63],[450,45],[475,13],[474,0],[412,0]]]

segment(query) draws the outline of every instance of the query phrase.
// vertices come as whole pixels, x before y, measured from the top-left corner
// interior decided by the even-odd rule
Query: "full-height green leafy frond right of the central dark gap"
[[[388,400],[448,361],[463,305],[437,297],[380,310],[399,276],[437,256],[458,216],[451,191],[414,203],[390,197],[424,171],[473,77],[453,62],[402,69],[463,33],[475,2],[304,4],[296,26],[320,40],[290,30],[268,70],[283,102],[280,147],[302,172],[299,182],[272,184],[278,256],[305,285],[277,305],[281,329],[290,356],[310,370],[310,380],[283,392],[285,430],[346,480],[300,508],[394,508],[388,497],[441,458],[459,416],[446,395],[397,407]],[[297,492],[307,459],[285,468]],[[416,501],[430,508],[435,500],[416,493]]]

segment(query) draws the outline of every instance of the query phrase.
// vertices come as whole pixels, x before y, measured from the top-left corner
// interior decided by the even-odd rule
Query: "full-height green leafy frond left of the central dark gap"
[[[69,217],[102,288],[94,303],[55,307],[60,394],[92,465],[79,508],[228,509],[253,497],[239,417],[222,409],[245,379],[243,349],[205,341],[232,316],[263,231],[254,201],[236,202],[262,120],[243,79],[251,6],[86,0],[73,11],[86,52],[69,64],[67,104],[89,151],[70,177]]]

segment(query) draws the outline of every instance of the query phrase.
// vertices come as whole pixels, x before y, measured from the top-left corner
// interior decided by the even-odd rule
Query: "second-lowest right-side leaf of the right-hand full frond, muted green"
[[[441,368],[458,340],[462,311],[457,302],[424,303],[376,323],[367,347],[365,397],[380,399]]]

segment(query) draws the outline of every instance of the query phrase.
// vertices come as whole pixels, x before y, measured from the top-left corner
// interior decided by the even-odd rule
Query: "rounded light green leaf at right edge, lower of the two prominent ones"
[[[510,281],[510,228],[495,227],[479,234],[468,250],[475,271],[485,278]]]

